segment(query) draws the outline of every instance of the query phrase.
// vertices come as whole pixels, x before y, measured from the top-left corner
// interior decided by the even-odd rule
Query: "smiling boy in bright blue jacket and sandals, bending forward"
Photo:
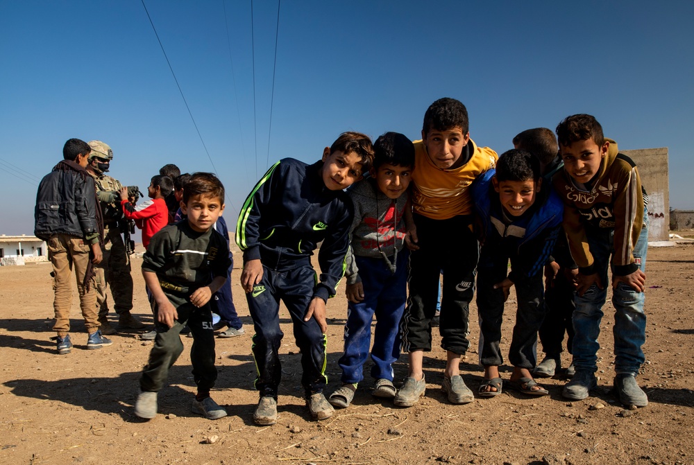
[[[473,195],[485,236],[477,265],[480,364],[484,366],[478,394],[501,393],[501,322],[504,303],[515,284],[518,310],[509,349],[514,365],[510,385],[524,394],[543,396],[548,391],[535,383],[530,370],[535,367],[537,331],[545,316],[543,267],[557,240],[563,204],[549,186],[542,185],[536,157],[516,149],[499,157],[496,173],[485,173]]]

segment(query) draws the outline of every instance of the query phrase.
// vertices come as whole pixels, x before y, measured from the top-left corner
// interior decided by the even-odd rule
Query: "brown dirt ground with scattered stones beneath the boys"
[[[133,261],[134,313],[151,322],[141,263],[141,258]],[[403,409],[373,398],[373,380],[367,379],[353,405],[318,423],[304,407],[300,355],[282,310],[280,419],[259,427],[252,421],[257,403],[253,326],[238,283],[240,270],[234,270],[232,288],[246,335],[217,339],[219,380],[212,393],[229,416],[209,421],[190,412],[192,339],[183,337],[186,351],[171,369],[169,387],[160,392],[160,414],[142,421],[133,403],[151,343],[133,331],[112,336],[112,346],[87,351],[75,291],[76,345],[69,355],[58,356],[50,340],[51,265],[0,267],[0,464],[694,464],[694,246],[651,247],[646,271],[648,361],[638,380],[648,392],[648,407],[625,410],[611,395],[613,311],[607,304],[598,353],[600,387],[585,401],[564,400],[565,380],[552,378],[543,380],[550,395],[542,398],[505,389],[496,398],[450,405],[441,394],[445,353],[434,330],[435,348],[425,356],[428,389],[416,406]],[[513,303],[511,295],[504,353]],[[344,294],[330,300],[328,316],[331,392],[339,383]],[[476,391],[482,369],[475,308],[470,326],[471,351],[461,369]],[[569,362],[564,353],[562,364]],[[407,374],[407,356],[395,370],[398,384]],[[502,376],[509,374],[505,367]]]

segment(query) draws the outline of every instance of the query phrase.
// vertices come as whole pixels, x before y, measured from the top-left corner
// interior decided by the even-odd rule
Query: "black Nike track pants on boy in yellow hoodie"
[[[475,292],[479,247],[470,216],[432,220],[414,215],[419,249],[409,256],[409,297],[400,331],[403,351],[431,351],[432,318],[443,271],[439,333],[441,347],[463,355],[468,341],[469,306]]]

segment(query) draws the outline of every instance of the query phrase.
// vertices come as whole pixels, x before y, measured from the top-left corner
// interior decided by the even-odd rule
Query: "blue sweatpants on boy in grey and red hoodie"
[[[369,356],[371,320],[376,328],[371,349],[371,376],[393,380],[393,363],[400,357],[398,325],[407,300],[407,249],[398,253],[395,274],[383,258],[355,255],[359,277],[364,286],[364,300],[349,302],[345,324],[345,351],[340,357],[342,383],[359,383],[364,379],[362,367]]]

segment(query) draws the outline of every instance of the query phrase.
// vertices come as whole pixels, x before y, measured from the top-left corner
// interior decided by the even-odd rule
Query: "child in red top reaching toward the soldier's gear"
[[[123,208],[123,215],[128,220],[135,220],[135,225],[142,229],[142,245],[146,249],[149,245],[149,240],[154,236],[162,227],[169,224],[169,209],[167,208],[167,203],[164,198],[171,193],[174,189],[174,182],[168,176],[154,176],[147,188],[147,193],[149,198],[142,204],[134,207],[128,201],[128,189],[122,188],[121,194],[121,207]]]

